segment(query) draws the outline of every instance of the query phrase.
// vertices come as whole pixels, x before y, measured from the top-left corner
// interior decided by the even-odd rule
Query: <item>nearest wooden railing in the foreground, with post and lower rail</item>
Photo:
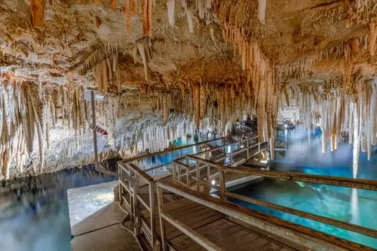
[[[242,222],[243,224],[263,229],[269,233],[273,233],[273,235],[276,235],[278,237],[282,237],[295,243],[300,243],[301,245],[306,246],[311,250],[337,250],[339,248],[341,248],[341,250],[355,251],[373,250],[372,248],[368,248],[352,241],[339,239],[338,237],[334,237],[326,233],[321,233],[317,230],[313,230],[305,226],[300,226],[299,224],[288,222],[287,220],[282,220],[278,217],[260,213],[252,209],[247,209],[240,206],[239,204],[221,200],[219,198],[215,198],[198,191],[193,191],[185,187],[180,187],[166,181],[158,181],[158,211],[160,217],[162,250],[164,251],[167,250],[168,242],[165,222],[169,222],[170,224],[181,230],[182,233],[193,239],[193,241],[197,242],[207,250],[222,249],[217,246],[216,243],[213,243],[203,235],[197,233],[197,231],[193,230],[189,226],[180,222],[178,219],[175,219],[174,217],[169,215],[169,213],[167,213],[167,211],[165,211],[164,209],[162,189],[228,215],[230,220],[234,221],[235,223]],[[375,232],[376,230],[370,229],[370,231]]]

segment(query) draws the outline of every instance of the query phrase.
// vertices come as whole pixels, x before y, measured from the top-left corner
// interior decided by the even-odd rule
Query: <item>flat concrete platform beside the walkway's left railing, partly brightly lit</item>
[[[114,201],[118,181],[67,191],[71,221],[71,250],[141,251],[132,232],[121,228],[127,213]],[[131,222],[123,226],[132,230]]]

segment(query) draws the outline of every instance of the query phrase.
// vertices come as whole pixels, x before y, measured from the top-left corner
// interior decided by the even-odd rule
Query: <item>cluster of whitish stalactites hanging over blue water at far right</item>
[[[356,73],[355,73],[356,74]],[[330,79],[308,92],[303,86],[297,88],[300,107],[300,118],[311,127],[319,120],[322,131],[322,152],[326,153],[326,143],[330,137],[331,150],[337,150],[337,144],[344,131],[348,132],[348,142],[353,144],[353,176],[358,172],[358,157],[360,150],[368,153],[376,144],[376,81],[358,80],[357,76],[350,77],[350,88],[344,90],[342,79]],[[356,86],[356,87],[355,87]],[[317,94],[314,103],[309,98]],[[292,95],[297,98],[296,94]],[[314,98],[312,99],[314,100]],[[319,112],[320,118],[310,118],[314,112]]]

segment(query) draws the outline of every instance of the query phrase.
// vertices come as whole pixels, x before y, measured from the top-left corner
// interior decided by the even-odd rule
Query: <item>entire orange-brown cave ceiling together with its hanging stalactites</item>
[[[275,137],[278,107],[296,103],[301,120],[322,123],[332,149],[355,124],[360,129],[350,137],[359,143],[361,139],[363,150],[376,144],[376,121],[367,120],[376,117],[376,109],[363,108],[376,105],[371,94],[376,92],[371,83],[376,76],[374,0],[0,3],[0,166],[5,177],[12,176],[13,167],[23,172],[19,155],[26,152],[26,159],[39,155],[43,169],[44,157],[48,161],[55,147],[49,146],[50,127],[58,128],[58,135],[68,130],[77,149],[88,144],[90,111],[80,102],[82,87],[106,93],[107,103],[99,106],[117,112],[110,118],[100,116],[113,133],[121,127],[116,120],[130,116],[133,109],[144,122],[160,114],[149,127],[169,124],[169,116],[176,116],[169,115],[173,105],[175,112],[195,116],[195,125],[203,130],[226,131],[228,122],[256,114],[260,140],[269,140]],[[191,125],[183,127],[193,131]],[[89,140],[83,140],[84,135]],[[117,150],[107,157],[138,152],[125,149],[119,137],[110,137]],[[132,137],[136,148],[141,138],[141,133]],[[70,156],[75,155],[71,148],[65,150]],[[125,155],[125,150],[130,153]],[[56,165],[51,163],[47,166]]]

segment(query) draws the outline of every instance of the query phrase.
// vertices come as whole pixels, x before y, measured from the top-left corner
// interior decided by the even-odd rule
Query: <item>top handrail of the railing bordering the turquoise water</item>
[[[254,168],[228,168],[227,166],[222,166],[219,163],[195,157],[193,155],[186,155],[189,159],[202,162],[206,165],[219,168],[227,172],[236,172],[239,174],[248,174],[248,175],[258,175],[265,176],[273,179],[286,179],[291,181],[302,181],[308,183],[319,183],[324,185],[337,185],[339,187],[351,187],[358,189],[366,189],[377,191],[377,181],[368,180],[368,179],[352,179],[336,176],[324,176],[317,174],[301,174],[298,172],[279,172],[271,170],[257,170]]]

